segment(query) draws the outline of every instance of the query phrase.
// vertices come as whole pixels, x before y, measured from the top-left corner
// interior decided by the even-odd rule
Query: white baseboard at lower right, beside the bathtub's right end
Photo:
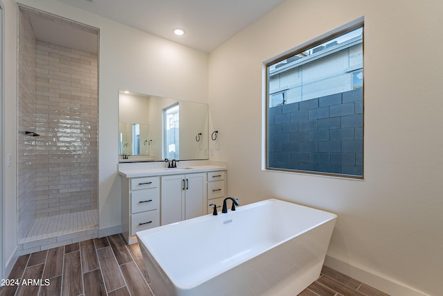
[[[389,295],[428,296],[415,288],[411,288],[393,279],[388,279],[386,277],[382,277],[381,275],[376,275],[367,270],[363,270],[354,265],[350,265],[349,263],[336,259],[332,256],[326,255],[325,265],[349,277],[352,277],[353,279],[368,284],[373,288],[381,290],[384,293],[388,293]]]

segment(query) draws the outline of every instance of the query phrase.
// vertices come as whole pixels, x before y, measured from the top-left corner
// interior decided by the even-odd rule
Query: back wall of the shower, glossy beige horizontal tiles
[[[98,207],[97,56],[37,41],[35,218]]]

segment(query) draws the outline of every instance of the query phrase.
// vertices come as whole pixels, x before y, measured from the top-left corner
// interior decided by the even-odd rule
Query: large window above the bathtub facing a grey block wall
[[[266,64],[266,168],[363,177],[363,22]]]

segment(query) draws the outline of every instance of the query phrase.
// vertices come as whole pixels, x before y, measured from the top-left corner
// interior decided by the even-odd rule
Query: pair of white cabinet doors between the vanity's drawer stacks
[[[206,173],[161,177],[161,225],[206,214]]]

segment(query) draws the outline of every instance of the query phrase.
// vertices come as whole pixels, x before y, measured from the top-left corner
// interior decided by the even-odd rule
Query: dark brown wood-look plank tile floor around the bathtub
[[[154,295],[138,244],[125,245],[120,234],[19,256],[8,279],[19,286],[0,287],[0,296]],[[318,295],[387,294],[324,266],[320,277],[299,294]]]

